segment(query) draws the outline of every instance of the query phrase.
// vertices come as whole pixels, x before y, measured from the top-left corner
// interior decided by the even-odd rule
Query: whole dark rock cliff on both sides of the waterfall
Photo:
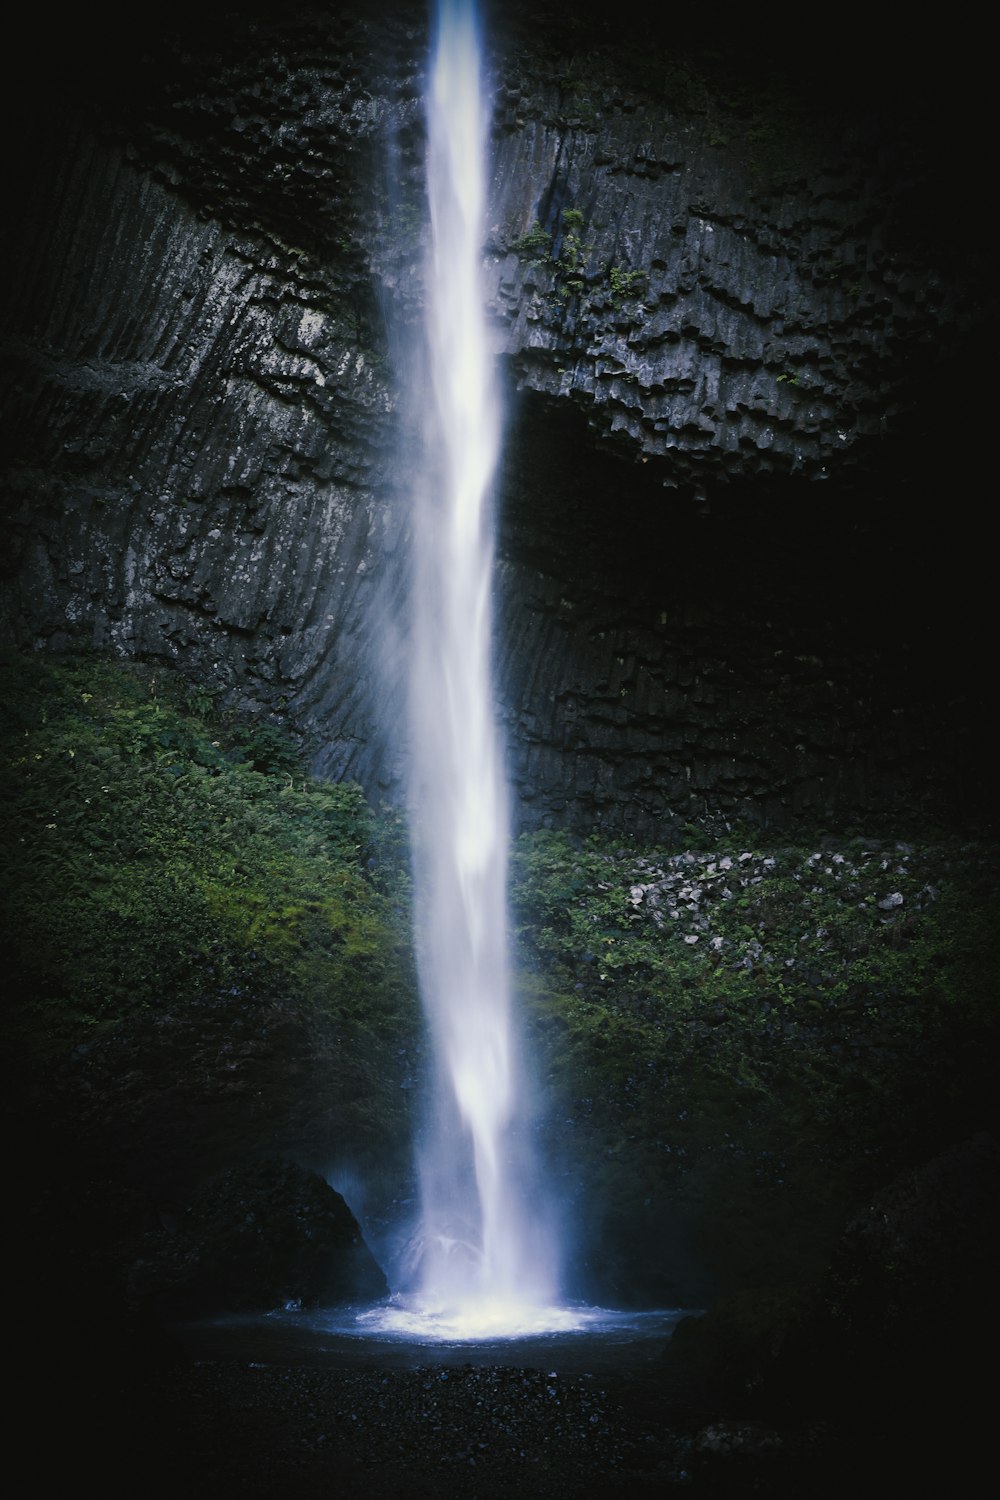
[[[169,657],[391,792],[424,6],[144,24],[19,122],[3,632]],[[996,309],[954,132],[697,30],[511,6],[492,48],[520,819],[967,804],[976,622],[927,597],[976,549],[915,520]]]

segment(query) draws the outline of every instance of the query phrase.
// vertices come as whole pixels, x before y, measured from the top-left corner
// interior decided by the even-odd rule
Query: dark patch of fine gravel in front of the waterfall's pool
[[[198,1362],[160,1401],[187,1496],[636,1494],[684,1484],[690,1448],[604,1382],[540,1370]]]

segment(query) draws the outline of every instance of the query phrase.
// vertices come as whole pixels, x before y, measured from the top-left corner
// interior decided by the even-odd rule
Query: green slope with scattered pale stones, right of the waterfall
[[[663,1209],[720,1278],[822,1264],[873,1186],[982,1128],[996,850],[523,837],[522,988],[612,1218]]]

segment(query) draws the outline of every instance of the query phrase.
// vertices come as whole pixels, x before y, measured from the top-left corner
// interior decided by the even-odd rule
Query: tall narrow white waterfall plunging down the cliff
[[[427,87],[426,464],[414,496],[409,782],[436,1059],[411,1278],[429,1323],[499,1332],[558,1296],[510,994],[508,808],[492,690],[501,402],[481,298],[489,111],[472,0],[439,0]]]

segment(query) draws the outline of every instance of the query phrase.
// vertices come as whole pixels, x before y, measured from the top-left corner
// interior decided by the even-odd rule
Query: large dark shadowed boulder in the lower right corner
[[[663,1356],[693,1408],[822,1424],[829,1494],[961,1488],[991,1428],[1000,1146],[978,1134],[900,1173],[846,1227],[826,1274],[682,1320]]]

